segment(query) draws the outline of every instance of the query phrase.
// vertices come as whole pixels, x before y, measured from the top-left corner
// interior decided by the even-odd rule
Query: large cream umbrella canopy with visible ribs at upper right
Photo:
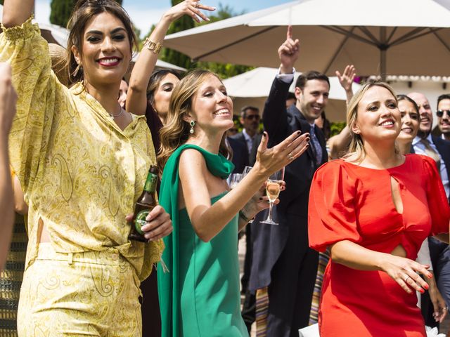
[[[194,60],[276,67],[287,25],[300,39],[297,70],[450,75],[449,0],[297,0],[165,39]]]

